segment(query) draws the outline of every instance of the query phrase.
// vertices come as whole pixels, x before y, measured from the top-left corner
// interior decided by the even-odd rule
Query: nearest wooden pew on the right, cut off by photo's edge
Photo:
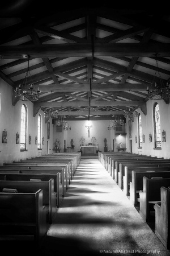
[[[155,204],[155,234],[163,245],[170,249],[170,191],[160,188],[160,204]]]

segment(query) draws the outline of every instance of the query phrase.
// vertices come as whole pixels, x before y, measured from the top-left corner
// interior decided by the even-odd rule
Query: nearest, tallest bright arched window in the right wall
[[[159,114],[158,103],[154,105],[154,141],[155,141],[155,147],[161,147],[160,114]]]

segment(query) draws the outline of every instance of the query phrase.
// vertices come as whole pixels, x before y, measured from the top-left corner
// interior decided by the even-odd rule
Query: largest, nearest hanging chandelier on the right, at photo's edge
[[[156,54],[157,57],[157,54]],[[156,74],[158,73],[159,82],[155,82]],[[170,97],[170,86],[167,84],[165,85],[163,82],[163,79],[160,75],[159,69],[158,69],[158,60],[156,59],[156,72],[154,76],[154,80],[152,82],[151,88],[149,89],[147,86],[147,93],[148,98],[150,100],[165,100],[167,101]]]

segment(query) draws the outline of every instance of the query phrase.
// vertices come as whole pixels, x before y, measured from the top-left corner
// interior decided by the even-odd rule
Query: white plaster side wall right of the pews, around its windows
[[[155,102],[158,102],[160,109],[160,130],[161,136],[162,131],[166,133],[166,142],[162,142],[162,150],[154,150],[154,123],[153,123],[153,106]],[[142,144],[142,149],[138,148],[138,143],[135,143],[135,135],[138,137],[138,125],[137,118],[134,118],[132,122],[132,141],[133,141],[133,153],[142,155],[157,156],[158,158],[170,158],[170,106],[165,104],[163,100],[149,100],[147,101],[147,115],[143,114],[141,109],[137,109],[141,113],[142,119],[142,135],[145,134],[145,143]],[[129,152],[129,133],[128,133],[128,122],[126,122],[126,144]],[[152,134],[152,142],[149,142],[149,134]],[[161,139],[162,140],[162,139]]]

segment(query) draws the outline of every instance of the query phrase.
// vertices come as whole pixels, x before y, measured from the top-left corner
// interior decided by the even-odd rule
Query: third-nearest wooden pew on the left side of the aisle
[[[0,182],[1,180],[18,180],[18,181],[26,181],[26,180],[41,180],[48,181],[50,179],[54,180],[54,192],[56,192],[56,206],[62,202],[62,184],[61,184],[61,174],[1,174],[0,172]]]

